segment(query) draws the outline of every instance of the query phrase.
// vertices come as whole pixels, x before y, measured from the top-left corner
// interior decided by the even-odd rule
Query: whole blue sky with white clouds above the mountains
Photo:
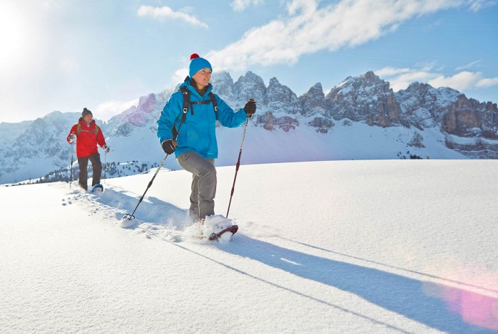
[[[190,53],[297,95],[374,71],[498,103],[498,0],[2,0],[0,122],[108,120],[186,76]]]

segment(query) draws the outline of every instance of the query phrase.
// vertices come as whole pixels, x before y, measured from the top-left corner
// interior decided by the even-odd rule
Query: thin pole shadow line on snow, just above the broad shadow
[[[452,280],[451,278],[444,278],[444,277],[441,277],[441,276],[432,275],[430,273],[422,273],[420,271],[415,271],[415,270],[412,270],[412,269],[402,268],[402,267],[398,267],[398,266],[392,266],[391,264],[386,264],[386,263],[382,263],[382,262],[372,261],[372,260],[369,260],[369,259],[362,259],[362,258],[360,258],[358,256],[354,256],[354,255],[350,255],[350,254],[345,254],[345,253],[340,253],[338,251],[332,251],[330,249],[324,249],[322,247],[314,246],[314,245],[311,245],[311,244],[305,244],[305,243],[300,242],[300,241],[296,241],[296,240],[293,240],[293,239],[288,239],[288,238],[285,238],[284,236],[279,236],[277,234],[270,234],[270,233],[268,233],[266,231],[260,231],[258,229],[253,229],[253,228],[248,227],[248,226],[244,226],[243,228],[244,229],[250,229],[252,231],[256,231],[256,232],[258,232],[260,234],[266,234],[270,238],[283,239],[285,241],[290,241],[290,242],[293,242],[295,244],[300,244],[302,246],[306,246],[306,247],[309,247],[309,248],[312,248],[312,249],[317,249],[319,251],[325,251],[327,253],[331,253],[331,254],[335,254],[335,255],[339,255],[339,256],[344,256],[344,257],[347,257],[347,258],[350,258],[350,259],[355,259],[355,260],[359,260],[359,261],[363,261],[363,262],[367,262],[367,263],[373,263],[373,264],[377,264],[379,266],[385,266],[387,268],[392,268],[392,269],[396,269],[396,270],[399,270],[399,271],[405,271],[407,273],[415,273],[416,275],[419,275],[419,276],[425,276],[425,277],[429,277],[429,278],[434,278],[434,279],[437,279],[439,281],[445,281],[445,282],[448,282],[448,283],[454,283],[454,284],[457,284],[459,286],[467,286],[469,288],[475,288],[475,289],[478,289],[480,291],[486,291],[486,292],[498,294],[498,290],[494,290],[492,288],[485,288],[484,286],[476,286],[474,284],[464,283],[462,281],[456,281],[456,280]]]

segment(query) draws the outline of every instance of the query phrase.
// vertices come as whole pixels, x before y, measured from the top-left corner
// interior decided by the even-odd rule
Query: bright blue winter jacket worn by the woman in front
[[[188,78],[180,87],[186,87],[190,90],[190,101],[209,100],[208,93],[213,90],[213,85],[208,85],[208,90],[204,96],[200,94],[190,85]],[[215,94],[216,103],[218,103],[218,111],[215,113],[213,103],[190,105],[186,115],[186,122],[181,124],[183,95],[181,91],[177,91],[171,95],[168,103],[161,112],[161,117],[158,120],[158,137],[159,142],[167,139],[173,139],[173,125],[178,131],[176,141],[176,156],[183,152],[195,151],[200,156],[206,159],[216,159],[218,157],[218,142],[216,142],[215,124],[216,120],[220,121],[225,127],[238,127],[245,122],[247,115],[241,108],[234,113],[218,95]],[[192,114],[193,110],[193,114]],[[181,124],[181,127],[180,127]]]

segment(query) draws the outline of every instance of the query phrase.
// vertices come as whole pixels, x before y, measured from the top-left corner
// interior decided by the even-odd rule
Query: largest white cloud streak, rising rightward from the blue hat
[[[296,63],[300,56],[336,51],[375,40],[416,16],[466,4],[466,0],[343,0],[318,6],[293,0],[288,16],[247,31],[239,41],[207,55],[217,69],[244,70],[255,64]]]

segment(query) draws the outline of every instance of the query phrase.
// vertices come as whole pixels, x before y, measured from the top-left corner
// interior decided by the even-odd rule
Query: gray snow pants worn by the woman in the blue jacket
[[[192,191],[188,213],[194,221],[215,213],[216,169],[214,159],[205,159],[198,153],[183,152],[176,158],[187,172],[192,173]]]

